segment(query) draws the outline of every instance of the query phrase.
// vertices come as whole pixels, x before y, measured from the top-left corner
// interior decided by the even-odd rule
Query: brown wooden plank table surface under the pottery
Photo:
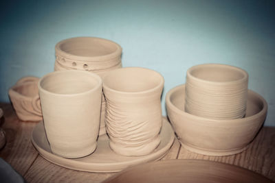
[[[7,143],[0,157],[12,165],[27,182],[102,182],[115,173],[89,173],[59,167],[42,158],[32,145],[30,136],[37,123],[19,121],[10,103],[0,103],[4,112],[1,127],[6,132]],[[192,153],[177,140],[162,158],[201,159],[234,164],[261,173],[275,181],[275,127],[263,127],[249,148],[232,156],[203,156]]]

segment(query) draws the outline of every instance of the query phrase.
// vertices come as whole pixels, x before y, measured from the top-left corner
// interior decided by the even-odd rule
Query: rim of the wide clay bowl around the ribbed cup
[[[267,112],[267,101],[265,101],[265,99],[263,97],[261,97],[261,95],[259,95],[258,93],[252,91],[252,90],[248,90],[249,93],[252,93],[252,95],[256,96],[258,99],[260,99],[263,102],[263,108],[256,114],[250,116],[250,117],[244,117],[241,119],[209,119],[209,118],[203,118],[203,117],[198,117],[192,114],[189,114],[188,112],[186,112],[185,110],[180,110],[179,108],[177,108],[172,101],[170,100],[171,95],[173,95],[173,93],[175,93],[177,90],[181,89],[181,88],[185,88],[185,84],[181,84],[178,86],[175,86],[174,88],[170,89],[168,91],[168,93],[166,94],[166,105],[173,111],[176,112],[177,114],[180,114],[181,116],[188,116],[192,119],[196,119],[197,123],[237,123],[237,124],[241,124],[241,123],[246,123],[247,121],[251,121],[252,119],[257,119],[258,117],[261,117],[263,114],[265,114],[265,112]]]

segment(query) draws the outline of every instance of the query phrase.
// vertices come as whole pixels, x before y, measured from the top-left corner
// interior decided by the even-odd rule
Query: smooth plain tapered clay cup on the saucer
[[[52,153],[80,158],[96,149],[102,80],[85,71],[56,71],[39,81],[45,132]]]

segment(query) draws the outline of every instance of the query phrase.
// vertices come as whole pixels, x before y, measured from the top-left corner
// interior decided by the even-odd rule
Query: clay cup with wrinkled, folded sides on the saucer
[[[156,71],[126,67],[103,79],[110,147],[124,156],[150,154],[159,145],[164,78]]]

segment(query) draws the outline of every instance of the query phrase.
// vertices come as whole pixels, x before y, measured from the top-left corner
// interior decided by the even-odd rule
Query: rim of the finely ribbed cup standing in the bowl
[[[222,67],[222,68],[232,69],[234,71],[238,71],[239,73],[242,73],[243,77],[241,78],[241,80],[234,80],[234,81],[228,81],[228,82],[213,82],[213,81],[209,81],[209,80],[199,79],[198,77],[195,77],[194,75],[191,74],[191,71],[194,71],[195,69],[201,68],[203,66],[219,66],[219,67]],[[248,73],[245,70],[238,67],[238,66],[231,66],[231,65],[228,65],[228,64],[210,63],[210,64],[198,64],[198,65],[195,65],[195,66],[191,66],[186,71],[186,77],[190,77],[192,80],[195,80],[196,82],[201,82],[203,84],[228,85],[228,84],[239,84],[239,83],[245,82],[246,80],[248,80]]]

